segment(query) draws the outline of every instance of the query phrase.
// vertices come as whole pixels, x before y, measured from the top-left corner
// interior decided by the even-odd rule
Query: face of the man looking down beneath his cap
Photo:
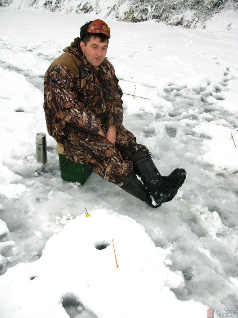
[[[91,37],[87,45],[81,41],[80,47],[87,61],[93,66],[99,66],[107,54],[108,42],[100,42],[100,38]]]

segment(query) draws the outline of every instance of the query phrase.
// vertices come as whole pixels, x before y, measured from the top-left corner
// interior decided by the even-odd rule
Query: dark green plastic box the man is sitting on
[[[61,178],[66,181],[79,182],[80,184],[84,184],[93,170],[86,164],[72,162],[64,155],[58,155]]]

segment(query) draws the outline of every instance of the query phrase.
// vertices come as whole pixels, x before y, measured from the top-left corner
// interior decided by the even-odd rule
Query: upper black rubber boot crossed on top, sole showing
[[[172,200],[186,178],[186,171],[183,168],[175,169],[169,176],[161,176],[146,152],[135,153],[129,157],[129,160],[133,162],[134,171],[141,177],[156,204]]]

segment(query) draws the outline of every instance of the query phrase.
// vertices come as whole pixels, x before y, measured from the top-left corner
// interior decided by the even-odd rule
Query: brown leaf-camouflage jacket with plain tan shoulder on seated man
[[[44,77],[47,130],[60,142],[71,132],[96,134],[108,125],[122,126],[122,90],[114,67],[104,59],[92,66],[82,55],[80,38],[48,68]]]

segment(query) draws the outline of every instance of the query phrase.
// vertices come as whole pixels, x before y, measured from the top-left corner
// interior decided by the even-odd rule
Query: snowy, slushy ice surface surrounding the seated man
[[[44,73],[94,18],[0,9],[0,316],[235,310],[237,16],[216,16],[205,30],[107,20],[108,58],[123,92],[136,85],[149,98],[123,96],[124,125],[162,174],[187,170],[178,195],[158,209],[96,174],[83,186],[62,181],[49,135],[48,163],[36,163],[35,135],[46,133]]]

